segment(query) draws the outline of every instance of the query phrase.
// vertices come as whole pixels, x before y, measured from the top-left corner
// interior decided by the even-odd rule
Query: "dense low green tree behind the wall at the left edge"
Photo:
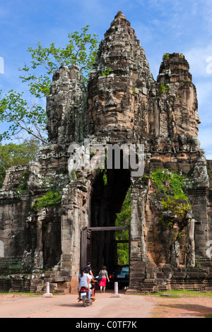
[[[0,188],[4,182],[6,170],[11,166],[28,165],[35,159],[37,143],[31,140],[28,144],[0,143]]]

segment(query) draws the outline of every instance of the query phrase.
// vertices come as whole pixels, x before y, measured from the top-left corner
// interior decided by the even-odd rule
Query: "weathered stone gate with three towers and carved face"
[[[197,107],[184,55],[165,54],[155,81],[134,29],[119,11],[100,43],[87,87],[76,66],[54,73],[47,97],[49,143],[35,162],[6,174],[0,274],[10,278],[2,278],[0,288],[40,291],[50,281],[58,292],[74,292],[88,258],[94,270],[106,264],[110,271],[117,263],[112,227],[129,190],[128,292],[211,290],[212,162],[200,149]],[[144,172],[138,177],[123,164],[108,167],[105,185],[102,172],[81,163],[95,156],[86,152],[88,140],[95,153],[98,146],[143,146]],[[186,179],[189,208],[183,218],[164,211],[166,196],[151,177],[155,170]],[[40,208],[37,198],[46,202]]]

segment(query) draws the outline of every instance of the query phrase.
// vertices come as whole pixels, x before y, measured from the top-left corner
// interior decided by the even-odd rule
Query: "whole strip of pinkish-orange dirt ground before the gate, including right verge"
[[[122,292],[122,291],[121,291]],[[29,297],[0,295],[0,318],[73,318],[73,319],[139,319],[142,318],[212,318],[212,298],[204,295],[179,298],[141,295],[111,297],[96,294],[90,307],[83,307],[77,295]],[[142,323],[141,323],[142,324]]]

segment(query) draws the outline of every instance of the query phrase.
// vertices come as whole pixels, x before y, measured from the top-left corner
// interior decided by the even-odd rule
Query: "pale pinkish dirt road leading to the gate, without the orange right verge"
[[[0,318],[151,318],[154,301],[139,295],[111,297],[97,292],[89,307],[77,301],[77,295],[53,297],[0,296]]]

